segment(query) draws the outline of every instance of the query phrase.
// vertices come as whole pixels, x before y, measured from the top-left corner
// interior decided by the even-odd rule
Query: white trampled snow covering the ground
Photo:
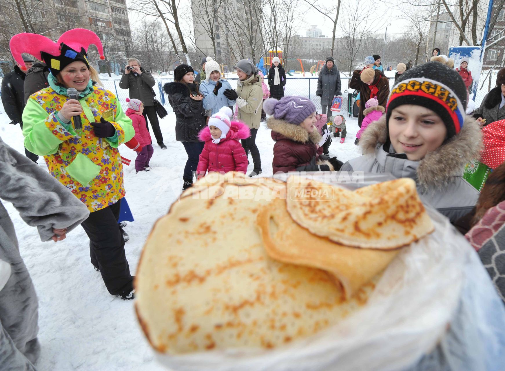
[[[124,167],[126,198],[135,217],[125,228],[130,235],[125,249],[132,274],[151,227],[168,211],[182,187],[187,156],[182,144],[175,141],[175,115],[171,108],[167,107],[167,111],[169,115],[160,125],[167,150],[154,146],[152,170],[136,174],[134,161]],[[330,146],[330,154],[341,161],[360,155],[354,145],[358,121],[346,119],[345,143],[336,141]],[[21,130],[9,122],[7,115],[0,113],[0,136],[24,153]],[[263,172],[272,174],[274,142],[264,125],[258,131],[257,144]],[[131,160],[136,157],[126,146],[121,146],[120,151]],[[247,172],[252,170],[250,162]],[[39,163],[45,168],[42,159]],[[154,360],[153,350],[138,326],[133,303],[112,297],[100,273],[93,269],[84,230],[77,227],[66,240],[56,244],[42,243],[36,228],[26,225],[11,204],[4,204],[16,226],[21,255],[39,298],[42,354],[37,368],[42,371],[166,369]]]

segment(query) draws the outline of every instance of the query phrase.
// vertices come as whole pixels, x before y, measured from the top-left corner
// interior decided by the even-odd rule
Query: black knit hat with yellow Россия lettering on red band
[[[447,139],[458,134],[465,121],[468,92],[460,74],[439,62],[411,68],[398,77],[386,105],[386,125],[398,106],[429,108],[443,120]]]

